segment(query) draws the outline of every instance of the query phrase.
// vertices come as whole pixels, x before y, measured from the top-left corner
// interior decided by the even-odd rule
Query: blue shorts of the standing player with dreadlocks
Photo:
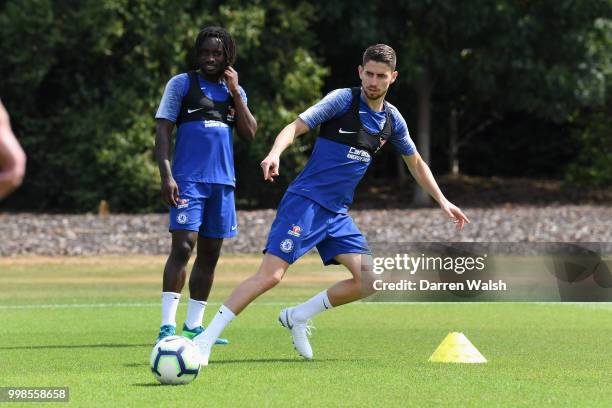
[[[197,231],[202,237],[236,236],[234,187],[225,184],[177,181],[179,200],[170,207],[170,231]]]

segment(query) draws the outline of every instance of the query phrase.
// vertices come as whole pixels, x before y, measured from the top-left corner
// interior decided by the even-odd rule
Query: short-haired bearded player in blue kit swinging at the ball
[[[358,72],[361,87],[338,89],[312,106],[277,136],[261,163],[265,180],[279,174],[281,153],[294,138],[321,125],[303,171],[289,185],[268,236],[257,273],[240,283],[224,302],[205,332],[194,338],[201,364],[207,365],[212,344],[249,303],[280,282],[293,262],[316,246],[325,265],[339,263],[352,274],[295,307],[280,312],[280,323],[291,331],[298,353],[311,359],[308,320],[325,310],[362,299],[373,292],[368,244],[347,214],[355,187],[372,156],[387,142],[402,155],[411,174],[461,229],[469,222],[440,191],[427,164],[410,139],[399,111],[385,102],[395,81],[396,56],[384,44],[369,47]],[[368,257],[368,259],[362,259]],[[365,283],[364,283],[365,282]]]

